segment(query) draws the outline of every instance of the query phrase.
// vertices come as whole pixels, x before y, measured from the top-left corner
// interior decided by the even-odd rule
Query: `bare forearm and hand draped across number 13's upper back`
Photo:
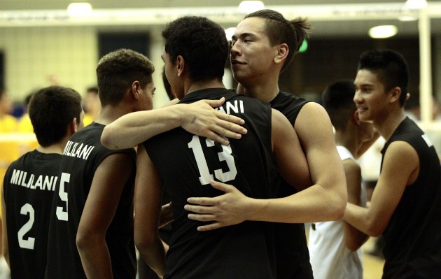
[[[244,120],[239,117],[214,110],[213,107],[221,106],[224,101],[225,98],[202,100],[123,115],[104,128],[102,144],[113,150],[133,148],[176,127],[228,144],[227,138],[240,138],[246,129],[240,126]]]

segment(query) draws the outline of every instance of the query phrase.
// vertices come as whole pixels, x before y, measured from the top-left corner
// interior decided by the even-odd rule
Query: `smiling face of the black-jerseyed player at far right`
[[[388,94],[376,73],[365,69],[359,70],[353,83],[356,86],[353,101],[356,103],[361,121],[375,122],[379,117],[386,115]]]

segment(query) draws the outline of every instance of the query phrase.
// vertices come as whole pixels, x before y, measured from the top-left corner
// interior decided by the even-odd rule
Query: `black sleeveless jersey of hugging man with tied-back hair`
[[[297,115],[307,102],[293,94],[279,92],[269,104],[272,108],[283,113],[294,127]],[[290,196],[296,192],[297,190],[293,186],[281,178],[278,197]],[[274,234],[277,278],[313,278],[304,224],[274,223]]]

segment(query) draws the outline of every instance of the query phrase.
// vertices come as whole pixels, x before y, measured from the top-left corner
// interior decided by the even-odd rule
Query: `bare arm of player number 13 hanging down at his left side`
[[[138,146],[135,185],[135,245],[146,264],[162,278],[165,274],[165,249],[158,232],[162,179],[143,145]]]

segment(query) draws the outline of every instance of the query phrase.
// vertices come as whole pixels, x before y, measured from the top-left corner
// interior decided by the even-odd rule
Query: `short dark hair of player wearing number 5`
[[[116,106],[135,80],[141,87],[152,82],[153,63],[134,50],[120,49],[109,52],[99,60],[97,80],[102,106]]]

